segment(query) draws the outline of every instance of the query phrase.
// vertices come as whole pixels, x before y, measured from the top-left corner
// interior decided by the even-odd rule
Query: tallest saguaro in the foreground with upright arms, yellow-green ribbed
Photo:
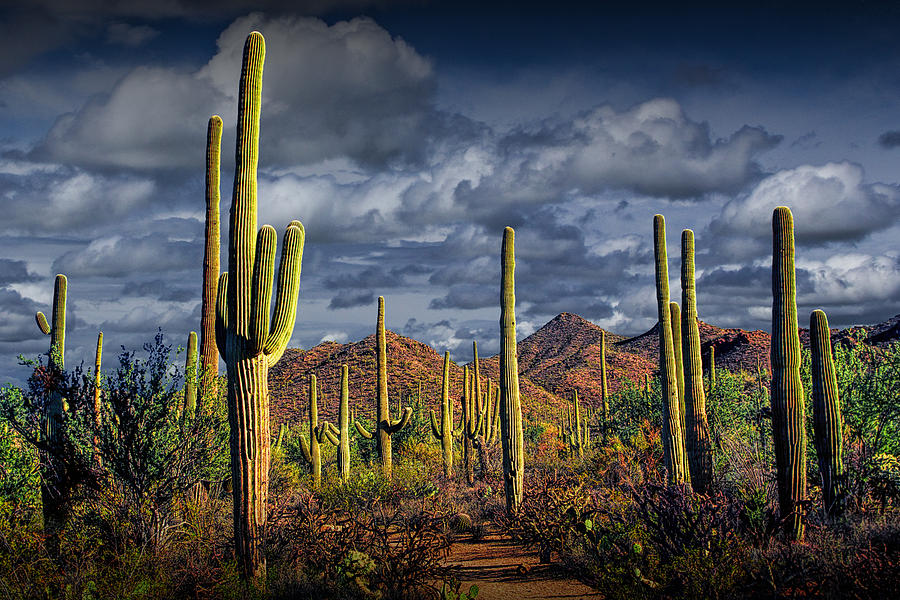
[[[291,221],[284,234],[275,311],[269,321],[276,233],[256,227],[256,167],[265,40],[254,31],[244,44],[238,94],[234,192],[229,217],[228,271],[219,277],[216,345],[228,368],[228,422],[235,550],[241,573],[265,581],[263,553],[269,488],[269,367],[294,330],[305,233]]]

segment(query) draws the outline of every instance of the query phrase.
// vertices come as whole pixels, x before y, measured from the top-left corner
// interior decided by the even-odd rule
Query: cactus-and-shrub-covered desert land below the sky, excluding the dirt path
[[[717,346],[752,346],[726,348],[699,320],[690,230],[671,302],[656,215],[658,323],[645,336],[561,315],[517,343],[507,227],[498,357],[473,344],[460,368],[421,349],[431,370],[403,372],[379,297],[365,368],[330,347],[317,375],[287,348],[304,227],[287,225],[277,274],[276,232],[257,228],[264,57],[254,32],[221,274],[222,125],[209,122],[199,343],[158,332],[110,368],[100,334],[93,368],[67,368],[65,276],[51,319],[37,314],[49,351],[0,393],[0,597],[474,598],[448,554],[488,533],[609,598],[900,589],[900,344],[833,332],[822,311],[800,330],[789,208],[773,214],[772,335],[755,369],[717,367]],[[564,347],[546,343],[551,325]],[[339,384],[323,385],[323,361]],[[298,418],[277,422],[291,398]]]

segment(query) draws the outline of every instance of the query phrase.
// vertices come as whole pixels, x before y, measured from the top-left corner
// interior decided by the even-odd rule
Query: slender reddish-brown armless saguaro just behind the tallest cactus
[[[219,374],[216,350],[216,287],[219,279],[219,156],[222,118],[213,115],[206,129],[206,244],[203,248],[203,298],[200,307],[200,368],[203,390]]]

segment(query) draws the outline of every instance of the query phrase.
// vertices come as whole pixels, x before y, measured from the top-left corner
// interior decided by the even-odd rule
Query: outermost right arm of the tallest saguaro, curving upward
[[[300,221],[291,221],[284,233],[281,262],[278,267],[278,289],[275,292],[275,312],[263,351],[269,364],[278,362],[291,339],[297,319],[297,298],[300,295],[300,267],[306,232]]]

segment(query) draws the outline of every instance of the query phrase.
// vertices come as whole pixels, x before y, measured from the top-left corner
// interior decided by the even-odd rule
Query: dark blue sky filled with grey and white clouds
[[[696,236],[700,318],[768,330],[789,206],[801,325],[900,313],[900,8],[440,0],[0,1],[0,382],[198,330],[206,126],[222,116],[222,252],[244,40],[266,38],[259,223],[307,238],[292,347],[388,328],[499,349],[516,229],[519,338],[560,312],[656,321],[652,222]],[[675,6],[677,4],[677,6]],[[223,265],[225,262],[223,261]]]

